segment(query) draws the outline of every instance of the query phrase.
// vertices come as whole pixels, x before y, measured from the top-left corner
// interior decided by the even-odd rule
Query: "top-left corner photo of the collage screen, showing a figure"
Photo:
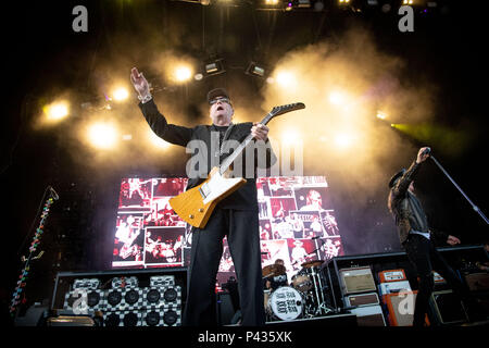
[[[151,178],[128,177],[121,183],[118,212],[149,212]]]

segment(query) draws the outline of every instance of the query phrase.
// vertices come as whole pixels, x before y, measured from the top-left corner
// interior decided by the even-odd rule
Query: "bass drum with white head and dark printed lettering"
[[[304,301],[302,295],[290,286],[281,286],[268,298],[266,312],[275,320],[294,320],[302,315]]]

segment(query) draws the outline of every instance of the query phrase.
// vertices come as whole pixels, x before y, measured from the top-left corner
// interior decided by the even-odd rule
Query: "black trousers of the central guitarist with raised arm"
[[[260,253],[259,214],[255,211],[214,210],[204,228],[192,228],[192,247],[184,325],[215,325],[215,282],[227,236],[235,264],[242,313],[241,324],[265,324]]]

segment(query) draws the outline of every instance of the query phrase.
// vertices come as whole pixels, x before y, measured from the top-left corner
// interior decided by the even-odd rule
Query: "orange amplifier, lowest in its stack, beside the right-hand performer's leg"
[[[414,304],[416,303],[417,290],[400,291],[384,296],[387,306],[388,322],[390,326],[413,325]],[[426,319],[429,325],[428,319]]]

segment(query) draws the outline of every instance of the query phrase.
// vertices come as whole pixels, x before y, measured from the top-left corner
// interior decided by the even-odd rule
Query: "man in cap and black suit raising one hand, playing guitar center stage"
[[[167,123],[154,103],[147,79],[136,67],[131,70],[130,79],[139,95],[139,108],[149,126],[159,137],[183,147],[187,147],[191,140],[200,140],[205,144],[202,147],[204,151],[199,149],[197,154],[204,157],[204,161],[199,161],[199,163],[209,164],[206,169],[199,167],[201,173],[203,171],[204,174],[209,174],[212,169],[211,160],[214,163],[221,163],[226,158],[226,153],[220,151],[225,140],[240,141],[250,133],[253,134],[255,140],[262,140],[256,144],[265,147],[266,153],[266,159],[255,161],[253,172],[258,164],[261,164],[262,167],[269,167],[276,160],[269,146],[267,126],[256,123],[233,123],[234,108],[225,89],[216,88],[208,94],[212,125],[198,125],[189,128]],[[212,141],[218,141],[218,144],[211,144]],[[217,151],[212,153],[212,149],[217,149]],[[201,153],[205,150],[206,153]],[[242,160],[241,163],[246,163],[246,161]],[[189,175],[187,189],[204,181],[204,178],[198,177],[201,175],[192,176]],[[239,282],[241,324],[246,326],[264,325],[259,209],[254,177],[247,177],[246,185],[217,204],[204,228],[192,227],[190,275],[183,324],[197,326],[216,323],[216,320],[213,320],[216,318],[214,288],[223,254],[224,236],[227,236]]]

